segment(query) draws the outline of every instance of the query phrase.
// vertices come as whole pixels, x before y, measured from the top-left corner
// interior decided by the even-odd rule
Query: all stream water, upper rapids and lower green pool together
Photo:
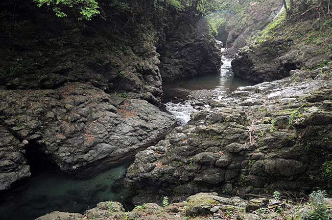
[[[250,85],[233,78],[230,62],[223,58],[220,75],[192,77],[165,85],[167,110],[186,123],[192,112],[204,107],[192,105],[191,99],[218,99],[239,86]],[[39,156],[32,155],[31,158],[37,158],[36,161],[29,161],[32,176],[0,195],[0,219],[30,220],[56,210],[82,213],[98,202],[110,200],[126,205],[125,199],[130,192],[124,188],[123,180],[128,164],[78,179],[64,174],[55,165],[38,161]]]

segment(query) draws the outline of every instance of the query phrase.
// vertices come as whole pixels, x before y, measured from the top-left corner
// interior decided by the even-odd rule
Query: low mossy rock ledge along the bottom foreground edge
[[[181,202],[164,204],[163,207],[155,203],[145,203],[136,206],[132,211],[125,212],[120,203],[109,201],[99,203],[97,207],[85,211],[84,215],[52,212],[36,218],[36,220],[185,220],[188,217],[196,220],[259,220],[262,218],[281,219],[284,217],[298,219],[312,210],[313,208],[308,204],[294,204],[289,201],[269,200],[268,198],[243,200],[239,197],[221,197],[216,193],[199,193]],[[326,212],[330,210],[331,206],[326,206]]]

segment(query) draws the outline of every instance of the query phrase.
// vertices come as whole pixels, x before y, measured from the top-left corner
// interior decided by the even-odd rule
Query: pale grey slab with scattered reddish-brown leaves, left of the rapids
[[[174,124],[169,114],[145,100],[109,95],[80,82],[56,90],[0,90],[0,115],[4,134],[38,144],[47,159],[67,172],[100,160],[120,164],[160,140]],[[8,138],[3,135],[0,142],[9,144]],[[6,154],[17,145],[15,158],[24,168],[24,150],[17,143],[13,139],[0,149]],[[8,169],[15,171],[10,164]]]

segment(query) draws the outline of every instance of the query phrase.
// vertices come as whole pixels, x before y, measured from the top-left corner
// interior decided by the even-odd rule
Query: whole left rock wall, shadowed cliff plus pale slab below
[[[25,149],[74,172],[120,164],[160,140],[175,122],[156,107],[163,74],[157,48],[184,50],[165,46],[170,39],[197,50],[170,68],[189,65],[204,74],[207,65],[206,72],[218,73],[219,50],[206,27],[194,25],[197,14],[167,3],[119,4],[101,2],[100,17],[78,21],[32,1],[0,3],[0,190],[30,175]],[[182,39],[180,26],[197,37]],[[197,72],[173,79],[188,74]]]

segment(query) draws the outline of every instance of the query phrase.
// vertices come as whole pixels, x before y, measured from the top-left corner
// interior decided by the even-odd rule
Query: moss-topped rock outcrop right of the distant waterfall
[[[231,63],[235,77],[257,83],[272,81],[289,76],[291,70],[320,71],[332,60],[332,53],[327,49],[332,39],[324,37],[330,26],[327,21],[306,20],[288,24],[286,28],[281,20],[274,21],[274,25],[276,28],[265,30],[271,35],[263,32],[252,35],[238,51]],[[276,30],[277,38],[272,34]]]

